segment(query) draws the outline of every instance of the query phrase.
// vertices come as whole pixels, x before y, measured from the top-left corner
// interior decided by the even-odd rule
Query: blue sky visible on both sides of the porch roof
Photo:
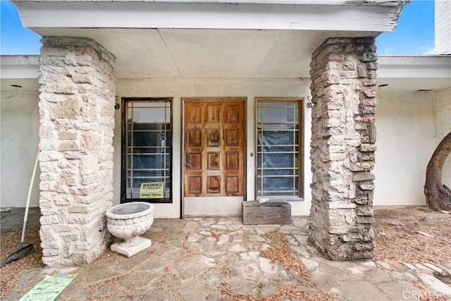
[[[0,0],[0,54],[39,54],[39,35],[22,27],[16,6]],[[413,0],[404,7],[395,32],[376,39],[378,54],[433,54],[434,2]]]

